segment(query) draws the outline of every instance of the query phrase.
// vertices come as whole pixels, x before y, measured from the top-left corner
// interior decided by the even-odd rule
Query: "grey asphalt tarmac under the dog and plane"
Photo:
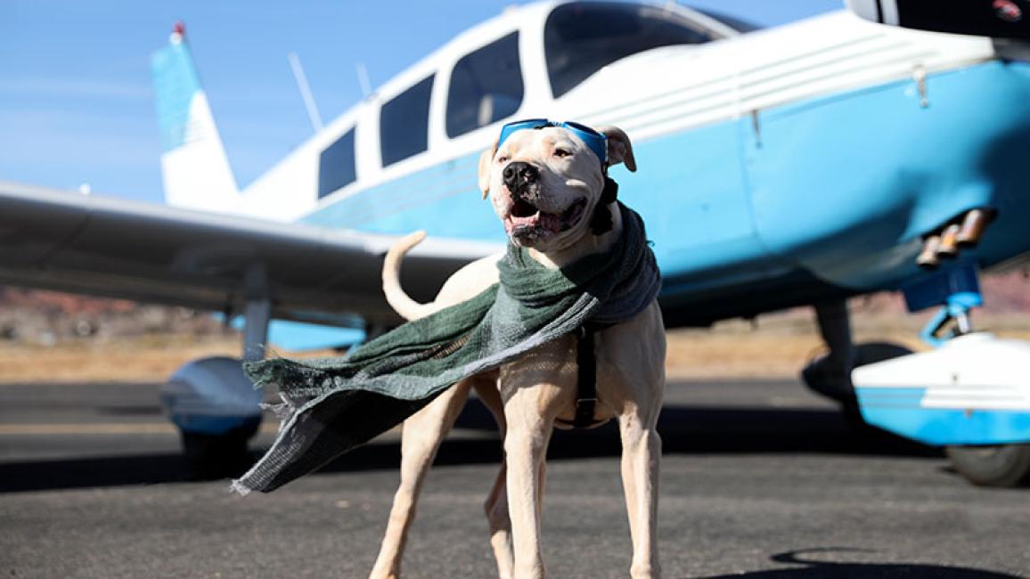
[[[0,576],[367,575],[396,489],[396,434],[240,498],[225,481],[181,481],[156,393],[0,385]],[[488,427],[470,405],[441,449],[406,577],[495,576],[481,507],[500,458]],[[665,577],[1030,576],[1030,489],[970,486],[940,451],[855,430],[794,381],[673,382],[660,432]],[[614,428],[555,436],[550,577],[628,576],[618,454]]]

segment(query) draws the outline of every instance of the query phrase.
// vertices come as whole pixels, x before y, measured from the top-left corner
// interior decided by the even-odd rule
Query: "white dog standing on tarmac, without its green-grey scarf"
[[[634,171],[625,133],[605,128],[607,161]],[[602,141],[604,142],[604,141]],[[604,151],[603,151],[604,152]],[[604,162],[605,160],[602,159]],[[603,204],[606,177],[597,146],[576,130],[548,126],[510,134],[480,159],[484,198],[504,224],[510,240],[526,247],[548,268],[560,268],[594,252],[607,251],[622,231],[615,205],[608,231],[591,226]],[[611,202],[611,199],[607,199]],[[415,319],[468,300],[499,280],[500,256],[474,262],[451,276],[436,300],[419,304],[401,288],[404,253],[424,234],[402,239],[383,267],[383,290],[390,305]],[[661,439],[655,430],[664,389],[665,336],[661,313],[652,302],[627,321],[599,330],[596,343],[594,418],[616,417],[622,438],[622,482],[632,535],[632,577],[658,577],[656,512]],[[572,422],[577,401],[577,345],[564,336],[499,370],[462,380],[404,422],[401,485],[374,578],[399,577],[418,491],[437,448],[475,388],[493,413],[504,437],[505,462],[485,503],[490,544],[501,577],[543,577],[540,517],[544,457],[552,428]]]

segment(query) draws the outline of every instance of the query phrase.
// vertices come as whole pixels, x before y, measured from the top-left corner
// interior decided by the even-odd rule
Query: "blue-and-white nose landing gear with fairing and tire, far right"
[[[905,287],[909,311],[939,308],[921,334],[934,349],[856,363],[851,381],[869,424],[945,447],[973,484],[1015,486],[1030,478],[1030,343],[973,332],[977,275],[960,261]]]

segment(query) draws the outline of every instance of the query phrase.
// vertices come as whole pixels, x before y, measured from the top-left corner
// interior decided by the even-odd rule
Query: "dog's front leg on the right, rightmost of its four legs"
[[[633,560],[629,574],[633,579],[661,577],[658,564],[658,467],[661,461],[661,437],[655,429],[657,409],[642,415],[639,408],[619,417],[622,438],[622,486],[629,514],[629,534],[633,542]]]

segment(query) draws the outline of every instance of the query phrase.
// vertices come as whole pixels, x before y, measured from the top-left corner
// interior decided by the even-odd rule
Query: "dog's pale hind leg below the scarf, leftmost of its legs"
[[[408,531],[415,518],[418,492],[440,443],[454,425],[469,398],[471,386],[471,379],[458,382],[404,421],[401,433],[401,484],[393,496],[379,556],[369,575],[371,579],[401,576],[401,559]]]

